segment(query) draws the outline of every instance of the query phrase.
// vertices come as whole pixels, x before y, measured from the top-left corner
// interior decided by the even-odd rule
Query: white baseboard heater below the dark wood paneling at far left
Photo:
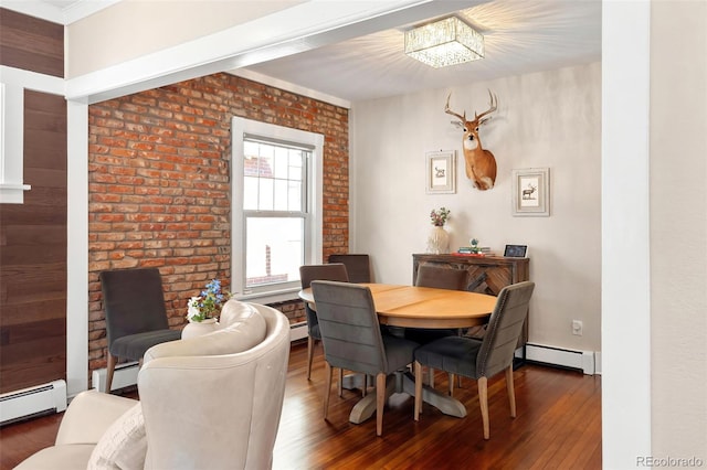
[[[66,409],[66,382],[22,388],[0,395],[0,423],[24,418],[40,413],[60,413]]]

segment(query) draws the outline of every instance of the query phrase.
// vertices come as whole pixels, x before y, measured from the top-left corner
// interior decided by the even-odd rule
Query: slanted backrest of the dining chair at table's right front
[[[525,281],[506,286],[498,293],[476,357],[478,375],[490,377],[513,362],[534,289],[535,282]]]

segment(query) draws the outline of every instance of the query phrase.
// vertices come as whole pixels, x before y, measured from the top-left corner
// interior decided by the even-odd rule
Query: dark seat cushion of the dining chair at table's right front
[[[482,342],[471,338],[447,337],[415,350],[415,361],[429,367],[478,378],[476,357]]]

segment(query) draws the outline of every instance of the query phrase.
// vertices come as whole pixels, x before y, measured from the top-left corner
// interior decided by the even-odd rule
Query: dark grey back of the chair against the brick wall
[[[108,345],[129,334],[169,329],[159,269],[107,270],[98,278]]]

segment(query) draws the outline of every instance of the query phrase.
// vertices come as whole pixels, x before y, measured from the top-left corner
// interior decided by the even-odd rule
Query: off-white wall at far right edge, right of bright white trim
[[[651,2],[651,39],[652,450],[658,458],[698,458],[703,467],[707,2]]]

